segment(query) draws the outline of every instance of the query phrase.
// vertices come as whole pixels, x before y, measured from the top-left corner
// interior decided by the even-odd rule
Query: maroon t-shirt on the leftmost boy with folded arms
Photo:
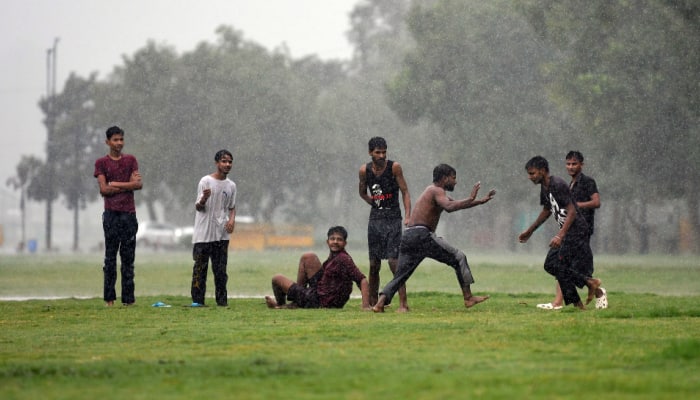
[[[136,157],[130,154],[122,154],[119,160],[112,160],[109,156],[98,158],[95,161],[95,178],[99,175],[104,175],[107,183],[109,182],[129,182],[131,174],[139,170],[139,163]],[[105,210],[121,211],[121,212],[136,212],[136,204],[134,203],[134,192],[117,193],[114,196],[105,196]]]

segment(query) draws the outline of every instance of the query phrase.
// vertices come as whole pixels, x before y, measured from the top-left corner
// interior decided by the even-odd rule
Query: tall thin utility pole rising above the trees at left
[[[46,96],[48,106],[46,113],[46,250],[51,251],[51,225],[53,219],[54,197],[54,162],[53,162],[53,136],[56,124],[56,55],[58,53],[58,38],[53,40],[53,47],[46,50]]]

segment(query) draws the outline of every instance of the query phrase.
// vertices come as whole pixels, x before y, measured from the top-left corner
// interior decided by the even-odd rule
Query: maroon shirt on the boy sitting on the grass
[[[316,285],[321,307],[343,308],[350,299],[352,283],[359,287],[363,279],[365,275],[345,250],[331,255],[323,263],[323,276]]]

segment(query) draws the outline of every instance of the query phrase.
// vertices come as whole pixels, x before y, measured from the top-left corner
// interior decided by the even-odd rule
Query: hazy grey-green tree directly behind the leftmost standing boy
[[[177,68],[174,49],[148,42],[132,57],[124,57],[124,65],[113,71],[97,102],[102,131],[111,125],[124,129],[127,152],[139,160],[146,184],[136,201],[146,203],[150,220],[158,220],[156,202],[168,205],[173,201],[172,186],[163,179],[177,165],[178,153],[173,148],[192,148],[182,143],[191,132],[183,133],[171,122],[178,117],[174,105],[182,101],[175,97]],[[187,165],[187,159],[183,161]]]

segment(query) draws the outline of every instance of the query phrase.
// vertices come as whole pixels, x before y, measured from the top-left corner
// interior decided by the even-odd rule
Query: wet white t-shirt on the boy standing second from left
[[[236,184],[226,178],[222,181],[206,175],[197,186],[197,202],[202,199],[204,188],[211,189],[211,195],[203,211],[196,211],[192,243],[208,243],[229,240],[226,223],[231,209],[236,206]]]

